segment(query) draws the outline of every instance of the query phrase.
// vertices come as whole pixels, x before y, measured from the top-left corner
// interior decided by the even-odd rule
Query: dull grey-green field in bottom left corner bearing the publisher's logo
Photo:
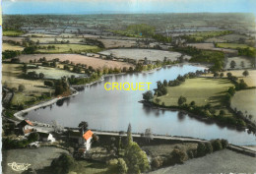
[[[35,170],[49,166],[52,159],[57,158],[61,153],[68,152],[65,149],[53,146],[42,146],[38,148],[20,148],[3,150],[3,174],[20,174],[23,171],[14,171],[8,163],[28,163],[29,168]]]

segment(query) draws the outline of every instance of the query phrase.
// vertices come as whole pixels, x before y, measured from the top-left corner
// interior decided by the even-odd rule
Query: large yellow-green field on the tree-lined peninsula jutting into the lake
[[[191,101],[195,101],[197,106],[210,103],[217,110],[225,109],[222,100],[228,87],[233,85],[225,79],[188,79],[178,87],[167,87],[167,94],[160,96],[159,99],[160,103],[164,102],[166,106],[177,106],[179,96],[183,95],[187,98],[188,104]],[[225,110],[225,113],[228,111]]]

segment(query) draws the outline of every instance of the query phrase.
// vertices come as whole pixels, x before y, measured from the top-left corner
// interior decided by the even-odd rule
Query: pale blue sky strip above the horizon
[[[256,0],[3,0],[3,14],[197,13],[256,14]]]

